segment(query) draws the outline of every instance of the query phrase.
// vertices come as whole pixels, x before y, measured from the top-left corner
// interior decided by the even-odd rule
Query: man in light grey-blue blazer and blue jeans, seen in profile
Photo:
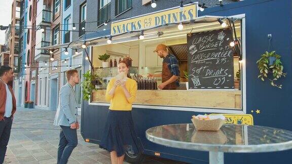
[[[68,83],[64,85],[59,94],[59,105],[55,116],[54,125],[60,126],[60,142],[58,147],[57,163],[68,162],[73,149],[77,146],[77,98],[73,87],[79,84],[79,74],[76,69],[66,71]]]

